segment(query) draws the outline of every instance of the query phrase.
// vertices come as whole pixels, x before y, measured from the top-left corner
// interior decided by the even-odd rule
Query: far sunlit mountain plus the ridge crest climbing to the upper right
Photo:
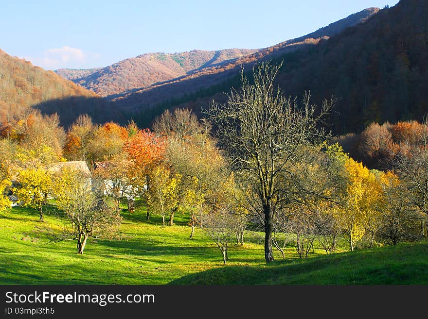
[[[349,26],[365,21],[379,11],[371,7],[322,27],[315,32],[290,39],[263,49],[224,49],[216,51],[190,50],[185,52],[143,53],[107,67],[93,69],[58,69],[57,74],[80,84],[110,100],[146,90],[170,81],[181,81],[227,71],[240,64],[274,57],[284,51],[296,50],[305,44],[316,44]],[[196,61],[195,61],[196,60]],[[196,62],[196,63],[195,63]]]

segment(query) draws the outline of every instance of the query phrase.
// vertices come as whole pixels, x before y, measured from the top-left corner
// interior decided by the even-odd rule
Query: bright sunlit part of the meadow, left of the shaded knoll
[[[162,285],[223,267],[221,253],[202,230],[189,238],[187,217],[177,216],[178,225],[163,228],[160,218],[146,222],[144,211],[123,216],[124,239],[89,239],[84,254],[78,255],[75,241],[49,244],[40,231],[59,228],[57,216],[47,212],[41,223],[36,210],[20,207],[0,214],[0,284]],[[261,265],[263,246],[232,244],[230,258],[230,265]]]

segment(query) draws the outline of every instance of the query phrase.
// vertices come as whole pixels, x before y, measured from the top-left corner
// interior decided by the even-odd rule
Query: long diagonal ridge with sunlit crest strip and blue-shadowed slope
[[[141,123],[147,125],[150,118],[159,115],[159,112],[163,110],[163,106],[158,108],[158,110],[153,110],[153,107],[156,105],[164,104],[165,107],[168,107],[168,101],[186,100],[186,96],[195,96],[195,94],[198,96],[201,95],[200,92],[202,92],[202,95],[206,95],[207,90],[209,94],[224,90],[228,91],[230,84],[234,83],[234,80],[231,82],[231,79],[236,77],[240,66],[249,67],[256,61],[280,58],[285,54],[292,54],[293,52],[296,54],[295,58],[298,59],[302,51],[309,50],[315,47],[320,41],[325,41],[347,28],[366,21],[377,12],[379,12],[378,8],[368,8],[331,23],[314,33],[258,50],[228,63],[199,68],[179,78],[129,90],[112,98],[113,101],[116,101],[120,109],[127,112],[127,114],[131,114],[133,118],[144,118]],[[212,92],[213,90],[214,92]],[[135,115],[135,113],[140,113],[140,115]]]

